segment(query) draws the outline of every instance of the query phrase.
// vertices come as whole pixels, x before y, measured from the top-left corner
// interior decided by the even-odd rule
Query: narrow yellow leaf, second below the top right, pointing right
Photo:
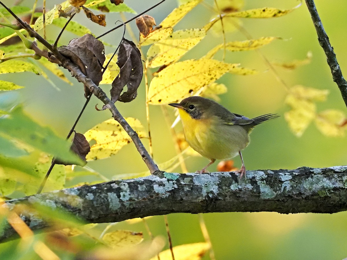
[[[225,44],[225,48],[228,51],[248,51],[248,50],[254,50],[257,49],[263,45],[269,44],[275,39],[279,39],[279,37],[261,37],[259,39],[255,40],[247,40],[247,41],[235,41],[235,42],[228,42]],[[224,48],[224,44],[219,44],[215,46],[211,51],[209,51],[204,58],[206,59],[212,59],[214,54],[217,53],[217,51]]]

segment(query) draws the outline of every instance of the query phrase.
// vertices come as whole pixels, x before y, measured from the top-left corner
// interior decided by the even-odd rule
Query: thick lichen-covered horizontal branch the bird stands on
[[[247,171],[242,181],[233,172],[160,173],[36,194],[9,200],[6,205],[15,210],[22,203],[47,206],[52,215],[62,209],[87,223],[170,213],[335,213],[347,210],[347,166]],[[50,226],[37,212],[19,214],[34,231]],[[15,236],[14,229],[5,224],[0,242]]]

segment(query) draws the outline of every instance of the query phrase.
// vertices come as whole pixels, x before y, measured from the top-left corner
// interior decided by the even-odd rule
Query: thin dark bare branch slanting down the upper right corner
[[[314,0],[305,0],[305,2],[318,35],[318,42],[322,46],[325,55],[327,56],[327,62],[331,70],[332,79],[339,87],[342,98],[344,99],[347,106],[347,81],[342,76],[339,63],[336,59],[336,54],[333,50],[333,47],[330,45],[328,35],[325,33],[321,18],[319,17],[318,11],[314,4]]]

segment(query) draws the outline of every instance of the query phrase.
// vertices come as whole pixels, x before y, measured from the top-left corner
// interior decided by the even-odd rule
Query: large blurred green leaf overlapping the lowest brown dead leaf
[[[36,123],[23,112],[22,107],[16,107],[9,116],[0,118],[0,133],[59,159],[81,163],[79,157],[70,151],[70,142],[57,136],[50,128]]]

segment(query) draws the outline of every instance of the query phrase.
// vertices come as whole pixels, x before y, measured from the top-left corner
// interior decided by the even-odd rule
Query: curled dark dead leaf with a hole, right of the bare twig
[[[141,53],[132,41],[123,39],[120,43],[117,65],[120,72],[112,83],[112,101],[130,102],[137,95],[143,75]],[[127,91],[120,95],[125,85]]]

